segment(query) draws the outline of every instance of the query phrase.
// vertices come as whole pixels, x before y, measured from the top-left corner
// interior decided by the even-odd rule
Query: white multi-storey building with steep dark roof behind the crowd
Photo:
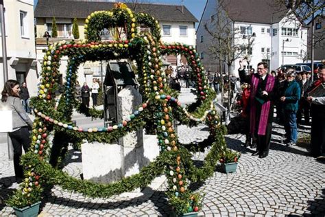
[[[237,73],[239,60],[250,56],[249,67],[256,69],[258,62],[268,62],[269,69],[277,69],[283,63],[293,64],[302,62],[306,54],[307,29],[302,27],[298,19],[288,18],[287,10],[275,8],[274,1],[242,0],[219,1],[208,0],[197,29],[197,52],[201,54],[202,62],[206,69],[219,71],[218,61],[209,55],[212,37],[204,28],[205,23],[215,21],[215,13],[218,7],[226,11],[232,21],[236,36],[234,44],[245,45],[250,43],[250,55],[248,49],[232,64],[232,71]],[[216,22],[216,21],[215,21]],[[245,67],[248,67],[246,62]],[[221,66],[222,71],[228,71]]]

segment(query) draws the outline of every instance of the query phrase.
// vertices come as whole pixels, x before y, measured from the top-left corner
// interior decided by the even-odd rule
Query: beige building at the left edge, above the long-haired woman
[[[36,51],[34,36],[34,1],[4,0],[5,38],[8,58],[8,78],[27,82],[29,95],[37,94]],[[2,32],[0,32],[2,34]],[[3,89],[2,43],[0,89]]]

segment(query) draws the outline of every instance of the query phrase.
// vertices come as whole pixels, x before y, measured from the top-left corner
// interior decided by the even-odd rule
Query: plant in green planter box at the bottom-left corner
[[[18,217],[37,216],[40,209],[40,192],[34,191],[32,187],[23,187],[11,195],[5,203],[14,209]]]

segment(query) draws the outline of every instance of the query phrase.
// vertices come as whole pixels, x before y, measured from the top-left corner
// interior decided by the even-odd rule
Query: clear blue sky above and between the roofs
[[[34,5],[36,5],[38,0],[34,0]],[[56,1],[56,0],[52,0]],[[173,5],[181,5],[184,3],[186,8],[196,17],[198,21],[201,19],[201,15],[206,5],[206,0],[144,0],[145,2],[149,1],[151,3],[167,3]],[[197,25],[198,23],[196,23]]]

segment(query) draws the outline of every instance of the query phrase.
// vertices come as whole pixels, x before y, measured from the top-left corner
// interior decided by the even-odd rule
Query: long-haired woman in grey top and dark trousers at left
[[[8,80],[5,82],[1,93],[2,106],[7,106],[12,110],[12,131],[8,134],[14,148],[14,174],[18,183],[23,179],[23,166],[20,165],[22,155],[21,147],[24,148],[25,152],[28,151],[31,143],[29,130],[33,126],[32,120],[21,104],[19,91],[19,82],[16,80]]]

